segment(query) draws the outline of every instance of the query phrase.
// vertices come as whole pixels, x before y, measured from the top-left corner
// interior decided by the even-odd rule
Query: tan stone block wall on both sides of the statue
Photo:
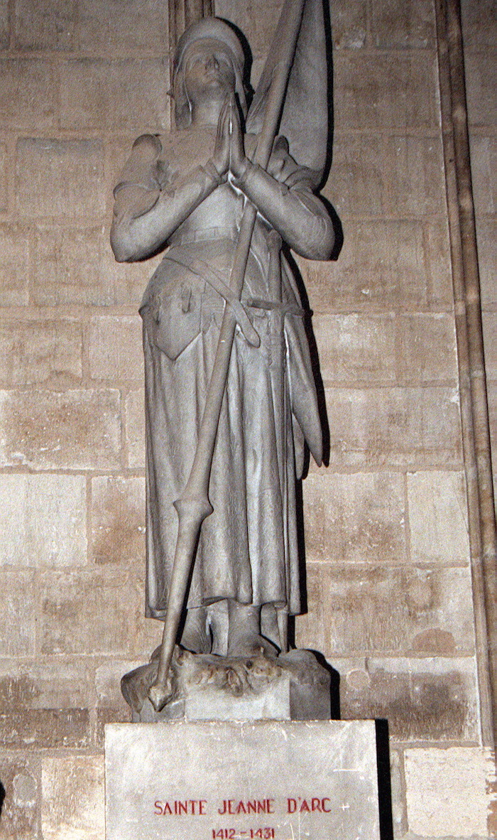
[[[495,385],[490,6],[463,3]],[[280,0],[215,8],[247,34],[257,76]],[[160,641],[143,617],[137,315],[157,260],[115,264],[108,233],[130,144],[170,125],[167,20],[160,0],[0,0],[0,840],[103,840],[103,726],[128,719],[120,676]],[[480,734],[434,0],[333,0],[332,35],[323,193],[344,242],[332,264],[300,260],[329,464],[304,484],[296,641],[339,672],[342,717],[389,719],[395,840],[483,840],[497,836],[494,765]]]

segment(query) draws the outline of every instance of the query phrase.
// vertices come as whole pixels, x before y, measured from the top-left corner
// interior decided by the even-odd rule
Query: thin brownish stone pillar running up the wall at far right
[[[481,737],[485,746],[493,747],[497,694],[494,492],[459,0],[436,3],[435,8]]]

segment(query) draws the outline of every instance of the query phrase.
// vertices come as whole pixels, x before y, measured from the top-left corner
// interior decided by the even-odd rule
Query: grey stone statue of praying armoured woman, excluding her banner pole
[[[166,617],[178,500],[229,308],[233,347],[207,470],[212,512],[194,538],[177,641],[195,654],[274,659],[288,647],[288,614],[301,611],[296,480],[304,442],[322,459],[306,312],[285,249],[327,260],[334,233],[315,194],[316,172],[294,160],[285,135],[275,139],[267,171],[254,163],[258,135],[243,130],[244,61],[238,35],[218,18],[183,34],[174,56],[176,130],[133,144],[114,190],[111,243],[120,262],[165,248],[140,307],[146,615]],[[257,216],[238,300],[230,271],[248,203]]]

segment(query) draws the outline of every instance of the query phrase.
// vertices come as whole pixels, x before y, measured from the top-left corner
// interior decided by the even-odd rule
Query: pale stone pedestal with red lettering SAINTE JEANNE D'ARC
[[[107,840],[379,840],[373,721],[108,724]]]

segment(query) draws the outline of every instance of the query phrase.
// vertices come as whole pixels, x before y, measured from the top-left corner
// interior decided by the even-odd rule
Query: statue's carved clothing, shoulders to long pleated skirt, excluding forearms
[[[116,187],[115,212],[130,213],[132,202],[132,215],[148,213],[160,192],[174,190],[189,173],[195,177],[214,137],[215,129],[203,128],[139,138]],[[253,152],[254,139],[246,138],[246,150]],[[273,154],[280,158],[281,188],[312,213],[318,200],[308,171],[292,160],[284,139],[277,141]],[[217,270],[228,284],[243,203],[243,195],[229,183],[217,186],[201,204],[201,219],[194,210],[170,236],[140,308],[149,617],[165,617],[178,531],[173,502],[191,470],[222,312],[228,305],[222,288],[220,293],[201,276],[201,265],[203,261]],[[206,225],[209,207],[212,224]],[[212,459],[213,512],[201,526],[189,608],[233,598],[241,604],[286,607],[290,614],[301,611],[296,480],[304,463],[304,439],[320,461],[322,431],[305,313],[285,260],[281,302],[269,292],[268,231],[258,216],[242,302],[260,346],[250,344],[247,330],[244,334],[237,326]]]

